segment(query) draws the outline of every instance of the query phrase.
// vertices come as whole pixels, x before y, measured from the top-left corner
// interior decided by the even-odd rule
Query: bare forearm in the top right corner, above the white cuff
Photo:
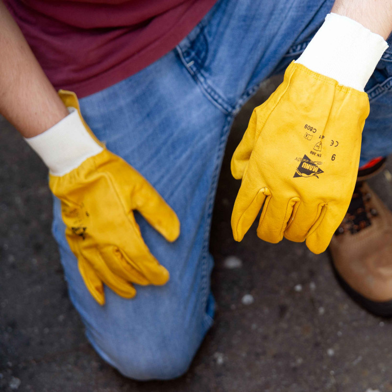
[[[331,12],[359,22],[384,39],[392,31],[392,0],[336,0]]]

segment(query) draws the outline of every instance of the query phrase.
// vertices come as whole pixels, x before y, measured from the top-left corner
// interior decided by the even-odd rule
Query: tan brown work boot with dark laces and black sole
[[[365,181],[357,182],[329,249],[346,292],[373,314],[391,317],[392,212]]]

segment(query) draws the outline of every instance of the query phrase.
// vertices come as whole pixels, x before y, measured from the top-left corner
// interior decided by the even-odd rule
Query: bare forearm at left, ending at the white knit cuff
[[[24,137],[32,137],[68,111],[1,0],[0,26],[0,113]]]

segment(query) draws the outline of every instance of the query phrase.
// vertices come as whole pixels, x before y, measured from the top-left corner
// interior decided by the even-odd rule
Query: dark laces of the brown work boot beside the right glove
[[[370,226],[372,218],[378,215],[377,210],[371,205],[371,195],[363,189],[363,184],[363,182],[358,182],[355,185],[347,213],[335,231],[335,235],[346,232],[358,233]]]

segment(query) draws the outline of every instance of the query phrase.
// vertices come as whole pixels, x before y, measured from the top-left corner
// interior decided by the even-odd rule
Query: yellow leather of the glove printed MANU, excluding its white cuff
[[[366,93],[291,63],[254,109],[231,160],[233,176],[242,178],[234,239],[243,239],[262,209],[258,237],[306,240],[312,252],[324,251],[354,190],[368,113]]]

